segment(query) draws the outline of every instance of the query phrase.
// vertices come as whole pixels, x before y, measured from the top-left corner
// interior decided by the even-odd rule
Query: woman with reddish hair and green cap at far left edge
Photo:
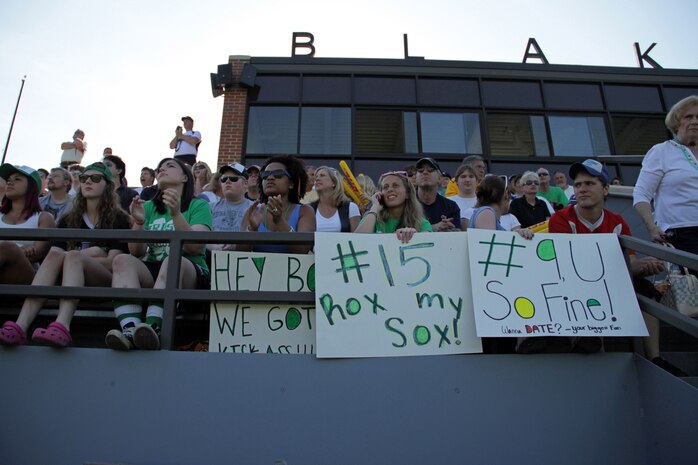
[[[41,211],[41,177],[35,169],[5,163],[0,166],[0,178],[6,181],[5,198],[0,204],[0,228],[56,227],[53,216]],[[0,241],[0,283],[30,284],[48,249],[46,241]]]

